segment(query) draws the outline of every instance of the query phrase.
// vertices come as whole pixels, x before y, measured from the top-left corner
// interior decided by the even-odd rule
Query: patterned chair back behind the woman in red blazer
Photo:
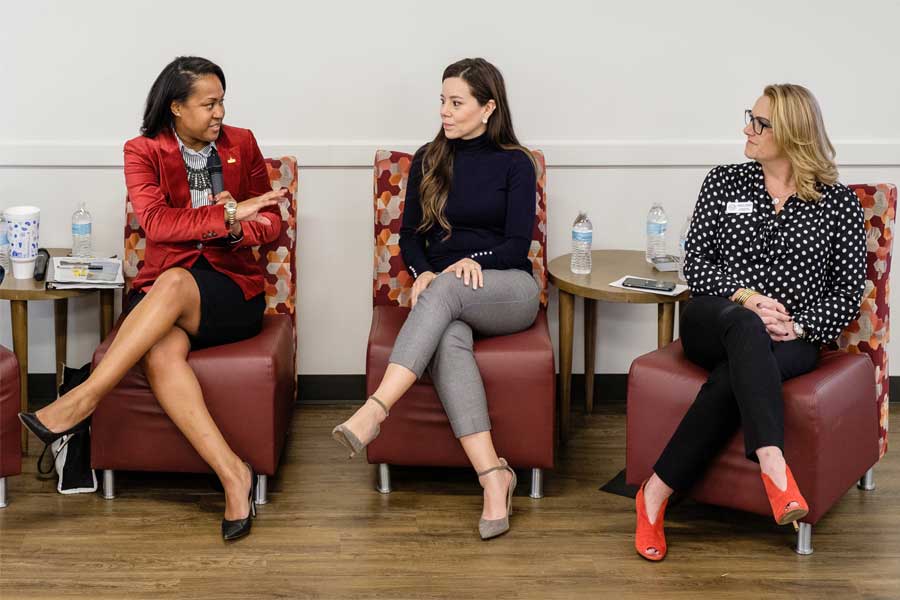
[[[266,274],[266,314],[291,315],[294,323],[294,353],[297,349],[295,318],[297,298],[297,159],[293,156],[267,158],[266,168],[272,189],[288,189],[286,200],[280,204],[284,227],[278,239],[264,246],[253,247],[253,258]],[[146,235],[138,223],[131,200],[126,197],[125,214],[125,290],[144,263]],[[124,295],[123,295],[124,298]]]

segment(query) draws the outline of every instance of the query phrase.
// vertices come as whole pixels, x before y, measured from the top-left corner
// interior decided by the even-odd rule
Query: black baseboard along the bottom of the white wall
[[[366,394],[365,375],[300,375],[298,380],[298,404],[359,404]],[[28,375],[28,391],[31,407],[44,406],[56,399],[56,375],[31,373]],[[628,375],[606,373],[594,376],[594,404],[625,404]],[[900,402],[900,376],[890,378],[891,403]],[[576,411],[584,407],[584,374],[572,375],[572,407]]]

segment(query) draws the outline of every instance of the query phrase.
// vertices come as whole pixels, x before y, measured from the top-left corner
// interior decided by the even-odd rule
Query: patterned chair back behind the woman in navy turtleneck
[[[534,229],[531,234],[531,260],[534,279],[541,289],[541,305],[547,307],[547,169],[544,154],[532,150],[539,177],[535,196]],[[372,303],[375,306],[410,305],[412,275],[400,256],[400,225],[406,182],[412,155],[392,150],[375,153],[375,264]]]

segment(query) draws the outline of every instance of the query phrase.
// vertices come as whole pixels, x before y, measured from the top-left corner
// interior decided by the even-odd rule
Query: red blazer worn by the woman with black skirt
[[[249,129],[222,125],[216,148],[222,159],[225,190],[241,202],[272,190],[266,164]],[[243,223],[244,239],[229,245],[223,205],[191,207],[187,170],[175,134],[166,129],[155,138],[139,136],[125,143],[125,185],[138,221],[147,235],[144,265],[132,282],[146,290],[173,267],[188,268],[201,254],[230,277],[250,299],[264,288],[263,269],[250,248],[281,233],[278,206],[261,211],[271,221]],[[209,242],[221,240],[212,245]],[[201,245],[198,248],[198,245]]]

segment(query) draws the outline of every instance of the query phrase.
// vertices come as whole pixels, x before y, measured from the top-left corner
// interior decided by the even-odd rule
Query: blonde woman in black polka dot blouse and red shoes
[[[808,506],[785,464],[784,380],[811,371],[819,346],[859,312],[865,229],[859,200],[838,183],[818,103],[798,85],[770,85],[746,111],[751,162],[713,169],[700,190],[684,274],[687,357],[710,371],[637,496],[635,549],[666,554],[663,518],[734,434],[758,462],[779,524]]]

